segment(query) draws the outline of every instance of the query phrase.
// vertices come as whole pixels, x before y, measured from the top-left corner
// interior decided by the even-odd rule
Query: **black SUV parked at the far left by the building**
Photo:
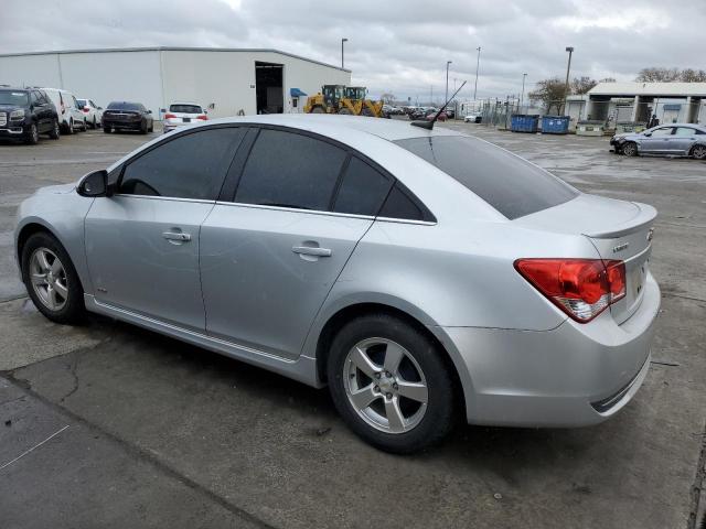
[[[58,140],[56,107],[36,88],[0,86],[0,138],[15,138],[35,144],[40,134]]]

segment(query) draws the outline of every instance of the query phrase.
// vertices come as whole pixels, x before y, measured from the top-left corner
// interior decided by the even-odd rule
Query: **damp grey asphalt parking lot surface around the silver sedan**
[[[581,191],[659,209],[653,364],[621,413],[578,430],[460,427],[438,449],[394,456],[355,438],[325,389],[107,319],[54,325],[17,277],[18,204],[159,131],[1,143],[0,527],[695,527],[706,162],[614,155],[608,138],[446,126]]]

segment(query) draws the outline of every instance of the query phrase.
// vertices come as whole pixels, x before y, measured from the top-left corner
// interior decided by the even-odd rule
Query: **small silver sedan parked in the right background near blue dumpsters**
[[[672,154],[706,160],[706,127],[694,123],[660,125],[642,132],[616,134],[610,145],[617,153]]]

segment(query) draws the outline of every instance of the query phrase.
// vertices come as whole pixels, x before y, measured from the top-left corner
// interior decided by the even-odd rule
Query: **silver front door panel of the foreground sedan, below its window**
[[[96,198],[85,222],[96,300],[203,331],[199,229],[213,205],[135,195]]]

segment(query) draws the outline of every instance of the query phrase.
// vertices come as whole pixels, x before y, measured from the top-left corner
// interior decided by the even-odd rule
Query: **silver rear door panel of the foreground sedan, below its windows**
[[[208,334],[299,356],[372,218],[216,204],[201,230]]]

